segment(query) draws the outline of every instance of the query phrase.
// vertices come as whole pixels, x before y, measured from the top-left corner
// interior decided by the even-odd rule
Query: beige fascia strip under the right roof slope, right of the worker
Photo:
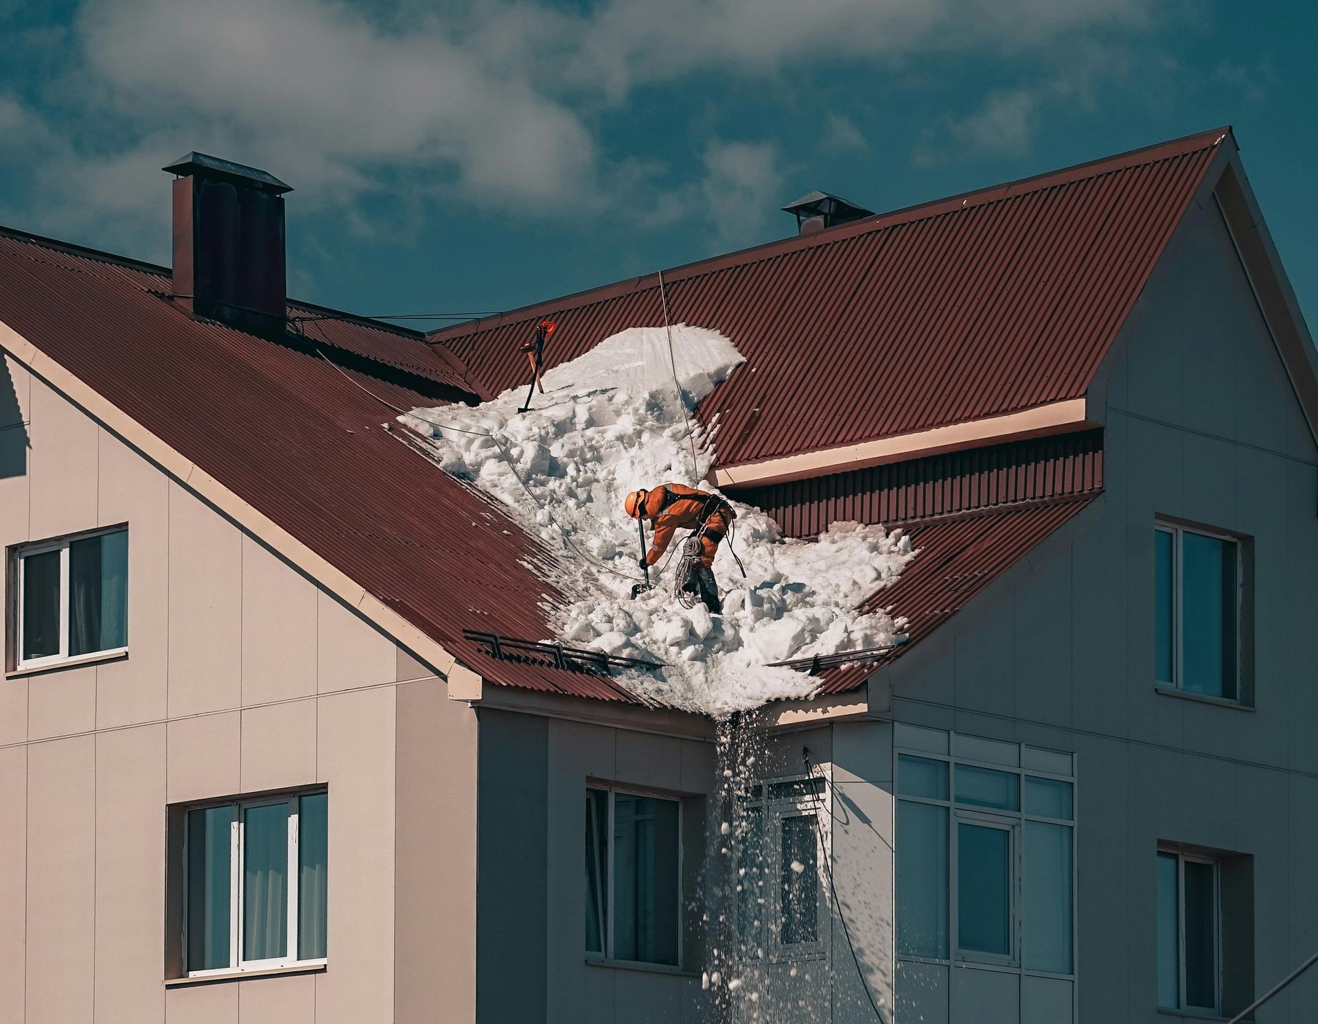
[[[986,444],[1089,430],[1099,424],[1089,419],[1086,406],[1083,397],[1068,398],[1020,412],[983,416],[967,423],[899,434],[894,438],[821,448],[755,463],[716,467],[713,482],[720,488],[784,484],[789,480],[829,476],[883,463],[904,463],[908,459],[921,459],[958,448],[979,448]]]

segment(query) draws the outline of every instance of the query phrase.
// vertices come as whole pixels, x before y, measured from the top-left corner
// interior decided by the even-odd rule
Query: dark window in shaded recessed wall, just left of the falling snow
[[[585,791],[585,948],[608,959],[677,966],[681,804]]]

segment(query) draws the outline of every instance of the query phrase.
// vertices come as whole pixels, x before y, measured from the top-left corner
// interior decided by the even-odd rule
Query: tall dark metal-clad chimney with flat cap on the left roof
[[[272,174],[204,153],[162,170],[174,179],[174,298],[194,316],[282,333],[287,281],[283,194]]]

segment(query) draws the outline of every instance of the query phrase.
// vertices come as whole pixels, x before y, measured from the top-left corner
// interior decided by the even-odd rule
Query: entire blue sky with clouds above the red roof
[[[1223,0],[0,0],[0,223],[167,262],[158,169],[198,149],[295,187],[299,298],[501,310],[782,237],[811,188],[883,211],[1232,124],[1313,323],[1314,38]]]

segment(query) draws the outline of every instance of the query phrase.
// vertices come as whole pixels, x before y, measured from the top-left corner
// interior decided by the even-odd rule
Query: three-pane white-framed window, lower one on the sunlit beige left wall
[[[187,808],[190,975],[324,963],[327,812],[324,792]]]

